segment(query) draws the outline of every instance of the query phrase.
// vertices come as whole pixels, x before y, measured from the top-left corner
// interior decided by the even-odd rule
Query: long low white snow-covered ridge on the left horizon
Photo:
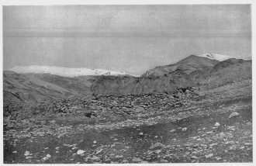
[[[50,66],[16,66],[7,71],[15,71],[16,73],[49,73],[64,77],[78,77],[83,75],[125,75],[125,72],[107,71],[103,69],[88,68],[68,68],[68,67],[50,67]],[[132,74],[128,74],[132,75]],[[133,75],[135,76],[135,75]]]

